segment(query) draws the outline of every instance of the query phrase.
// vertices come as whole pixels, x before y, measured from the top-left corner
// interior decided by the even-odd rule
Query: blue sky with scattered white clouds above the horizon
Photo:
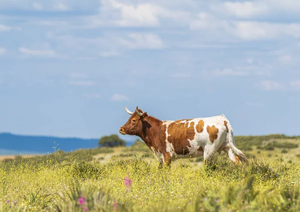
[[[139,106],[162,120],[223,113],[236,135],[298,135],[299,10],[298,0],[1,0],[0,131],[100,137]]]

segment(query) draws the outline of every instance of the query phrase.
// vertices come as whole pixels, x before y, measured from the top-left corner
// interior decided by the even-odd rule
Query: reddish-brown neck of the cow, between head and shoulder
[[[147,116],[147,121],[142,122],[142,130],[138,136],[147,146],[153,146],[159,140],[161,124],[161,120],[152,116]]]

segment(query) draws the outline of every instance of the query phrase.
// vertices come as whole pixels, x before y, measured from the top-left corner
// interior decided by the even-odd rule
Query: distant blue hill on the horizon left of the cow
[[[132,143],[133,141],[126,141],[127,146],[130,146]],[[98,138],[85,139],[0,133],[0,155],[19,153],[45,154],[53,152],[54,145],[56,146],[56,150],[59,148],[63,151],[71,151],[78,148],[94,148],[98,146]]]

